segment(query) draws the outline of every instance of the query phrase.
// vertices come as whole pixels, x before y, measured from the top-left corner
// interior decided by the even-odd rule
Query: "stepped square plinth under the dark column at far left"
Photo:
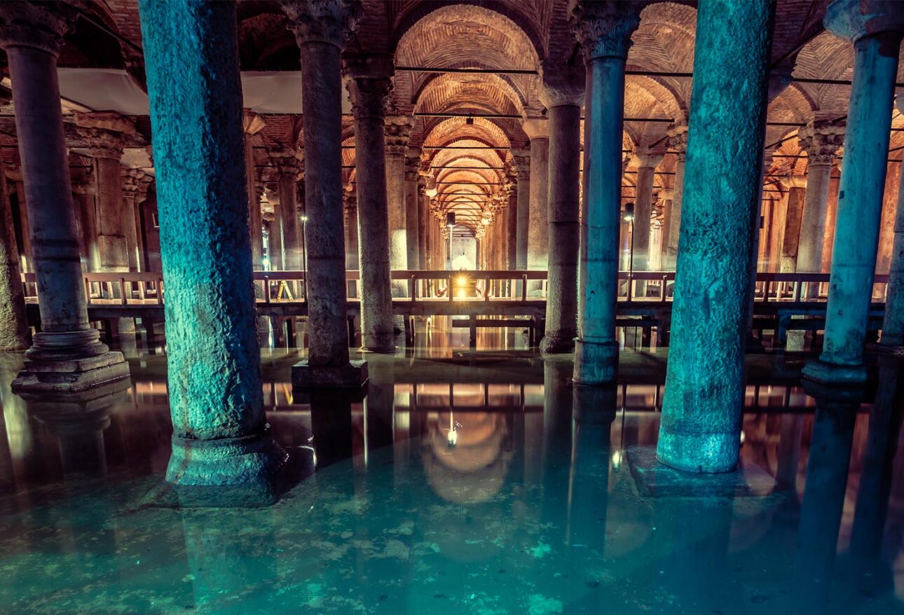
[[[121,352],[81,359],[30,359],[13,380],[13,392],[77,393],[128,377],[128,363]]]

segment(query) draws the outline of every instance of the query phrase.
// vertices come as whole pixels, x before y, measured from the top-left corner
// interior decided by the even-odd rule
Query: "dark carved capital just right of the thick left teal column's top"
[[[279,4],[299,46],[325,42],[340,51],[358,29],[363,14],[360,0],[279,0]]]

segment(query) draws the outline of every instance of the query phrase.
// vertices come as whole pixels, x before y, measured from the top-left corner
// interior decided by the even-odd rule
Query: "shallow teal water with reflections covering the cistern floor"
[[[79,408],[13,396],[2,359],[0,611],[904,612],[899,421],[876,437],[864,404],[814,430],[799,360],[749,358],[742,458],[769,495],[651,497],[626,452],[655,443],[661,350],[626,352],[599,396],[569,359],[445,340],[369,356],[363,402],[300,403],[297,351],[264,350],[297,484],[255,509],[159,497],[159,350],[127,349],[130,387]]]

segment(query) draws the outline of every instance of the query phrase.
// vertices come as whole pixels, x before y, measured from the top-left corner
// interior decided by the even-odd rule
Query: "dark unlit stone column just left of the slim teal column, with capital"
[[[543,353],[570,352],[578,335],[580,107],[584,75],[583,71],[554,67],[542,70],[541,79],[541,102],[550,116],[550,248],[546,331],[540,349]]]

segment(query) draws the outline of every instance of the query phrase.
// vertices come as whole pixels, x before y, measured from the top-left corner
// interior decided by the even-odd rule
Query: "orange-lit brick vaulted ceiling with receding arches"
[[[144,89],[137,0],[80,0],[79,5],[84,18],[67,37],[61,67],[125,70]],[[692,78],[686,74],[693,70],[695,5],[691,1],[651,2],[641,14],[627,69],[657,74],[628,75],[625,115],[668,121],[626,122],[626,149],[661,146],[669,121],[681,122],[687,117]],[[851,79],[852,48],[824,31],[826,5],[826,0],[778,0],[774,67],[793,69],[797,79]],[[297,46],[277,0],[240,0],[237,15],[242,70],[299,70]],[[391,53],[402,67],[532,71],[541,63],[555,67],[581,61],[569,17],[568,0],[363,0],[363,17],[348,50]],[[0,60],[5,57],[0,55]],[[899,70],[901,81],[904,61]],[[542,116],[539,77],[397,70],[393,81],[392,107],[400,114],[428,114],[417,116],[411,144],[424,146],[421,169],[443,182],[438,195],[441,206],[467,208],[472,205],[462,203],[498,197],[510,181],[510,148],[524,147],[528,139],[518,119],[479,116]],[[816,117],[842,117],[849,90],[844,85],[793,82],[771,103],[768,119],[804,124]],[[0,144],[14,143],[9,112],[9,108],[0,109]],[[467,114],[477,117],[466,122]],[[266,128],[255,137],[259,174],[265,182],[268,160],[264,146],[299,144],[303,117],[274,115],[266,121]],[[897,116],[895,126],[902,123],[904,119]],[[138,117],[137,125],[135,146],[142,147],[149,140],[149,123]],[[781,153],[798,154],[795,135],[796,126],[769,126],[767,144],[781,142]],[[345,117],[343,138],[346,145],[354,142],[351,117]],[[449,144],[459,148],[433,149]],[[460,149],[468,144],[475,148]],[[904,133],[894,133],[892,148],[902,144]],[[5,162],[17,163],[14,148],[2,151]],[[353,149],[344,150],[344,164],[353,164]],[[629,170],[633,164],[629,163]],[[788,172],[792,165],[805,169],[805,159],[779,163],[773,172]],[[450,168],[455,166],[478,168]],[[673,167],[674,156],[667,155],[663,170]],[[345,180],[352,179],[352,170],[346,169]],[[627,173],[628,194],[632,182],[632,174]],[[669,182],[668,176],[657,178],[657,186]]]

